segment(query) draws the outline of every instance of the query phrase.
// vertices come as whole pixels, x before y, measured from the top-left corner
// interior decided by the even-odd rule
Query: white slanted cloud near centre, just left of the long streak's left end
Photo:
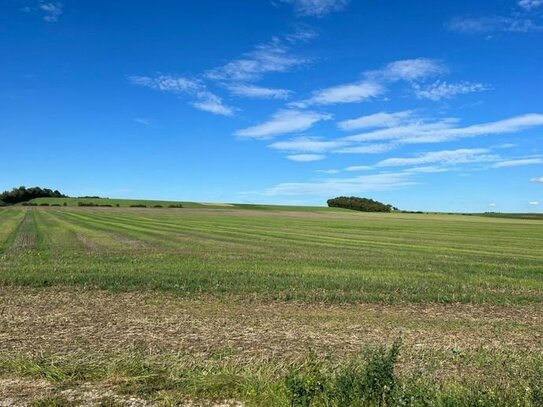
[[[240,137],[266,139],[280,134],[296,133],[309,129],[321,120],[329,120],[327,113],[299,110],[279,110],[270,120],[253,127],[236,131]]]

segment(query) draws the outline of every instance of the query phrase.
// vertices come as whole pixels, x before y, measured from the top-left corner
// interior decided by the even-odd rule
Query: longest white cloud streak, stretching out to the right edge
[[[524,114],[467,127],[459,127],[458,120],[454,118],[419,119],[415,122],[406,121],[396,127],[348,136],[344,140],[352,142],[389,140],[398,144],[440,143],[465,137],[517,133],[537,126],[543,126],[542,114]]]

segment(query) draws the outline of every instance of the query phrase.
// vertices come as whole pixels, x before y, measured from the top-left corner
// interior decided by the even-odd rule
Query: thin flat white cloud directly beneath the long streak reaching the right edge
[[[438,163],[440,165],[457,165],[496,161],[499,159],[498,156],[488,153],[489,150],[485,148],[463,148],[458,150],[431,151],[410,158],[387,158],[386,160],[377,163],[377,166],[397,167],[434,163]]]

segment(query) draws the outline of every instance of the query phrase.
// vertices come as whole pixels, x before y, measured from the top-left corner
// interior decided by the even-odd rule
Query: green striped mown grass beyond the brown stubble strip
[[[0,265],[2,284],[306,302],[543,301],[539,221],[241,209],[33,212],[50,255],[35,265],[12,256]]]

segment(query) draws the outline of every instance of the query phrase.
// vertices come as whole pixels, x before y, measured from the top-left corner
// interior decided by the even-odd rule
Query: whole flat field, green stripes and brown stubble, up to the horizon
[[[76,205],[0,208],[0,405],[543,405],[541,220]]]

